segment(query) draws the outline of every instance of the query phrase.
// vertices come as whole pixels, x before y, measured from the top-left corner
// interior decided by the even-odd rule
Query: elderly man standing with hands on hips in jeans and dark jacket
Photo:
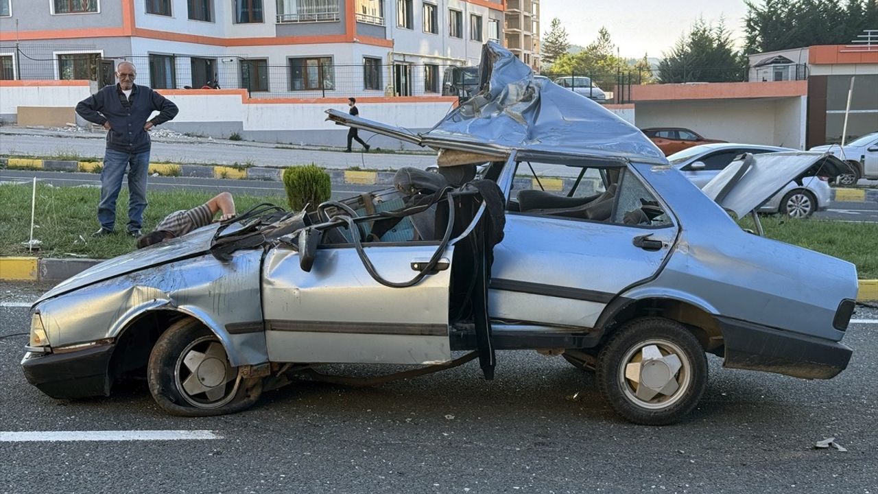
[[[119,84],[106,86],[76,105],[76,113],[83,119],[107,130],[104,150],[104,170],[101,171],[101,202],[97,206],[97,221],[101,229],[93,236],[113,233],[116,225],[116,198],[122,188],[122,178],[128,171],[128,235],[140,236],[143,211],[147,208],[147,178],[149,171],[152,127],[173,119],[176,105],[147,86],[134,84],[137,69],[132,62],[116,66]],[[149,116],[159,112],[152,119]]]

